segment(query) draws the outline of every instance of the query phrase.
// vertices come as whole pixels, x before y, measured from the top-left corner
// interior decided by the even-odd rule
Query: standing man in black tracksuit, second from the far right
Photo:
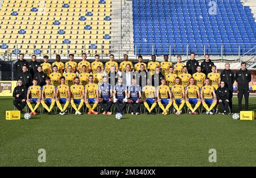
[[[221,81],[224,81],[226,87],[229,88],[229,108],[230,112],[233,113],[233,84],[234,84],[234,73],[230,70],[230,64],[225,63],[225,69],[221,72]]]

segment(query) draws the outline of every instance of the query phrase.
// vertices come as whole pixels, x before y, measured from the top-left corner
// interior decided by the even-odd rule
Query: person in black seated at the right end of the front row
[[[223,111],[223,115],[228,115],[229,109],[229,88],[225,86],[225,82],[220,82],[220,87],[216,91],[218,105]]]

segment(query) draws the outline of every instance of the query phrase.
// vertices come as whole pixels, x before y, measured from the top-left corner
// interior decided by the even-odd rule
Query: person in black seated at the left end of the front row
[[[14,88],[13,97],[13,104],[21,113],[24,114],[25,112],[23,111],[23,108],[27,104],[27,88],[22,84],[22,79],[18,79],[18,86]]]

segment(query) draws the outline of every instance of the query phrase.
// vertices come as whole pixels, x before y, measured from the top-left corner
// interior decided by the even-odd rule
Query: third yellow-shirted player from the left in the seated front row
[[[60,109],[60,115],[65,115],[65,111],[68,108],[70,98],[71,95],[69,86],[65,84],[65,77],[62,76],[60,78],[60,85],[56,87],[56,104]],[[61,104],[64,104],[64,107],[62,107]]]

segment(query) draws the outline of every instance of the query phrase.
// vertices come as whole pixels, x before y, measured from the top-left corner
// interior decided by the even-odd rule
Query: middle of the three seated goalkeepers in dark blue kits
[[[114,95],[113,102],[115,103],[115,107],[117,108],[117,112],[121,113],[125,111],[126,103],[127,103],[127,87],[122,83],[122,77],[118,78],[117,85],[114,86]],[[120,107],[119,104],[122,104]]]

